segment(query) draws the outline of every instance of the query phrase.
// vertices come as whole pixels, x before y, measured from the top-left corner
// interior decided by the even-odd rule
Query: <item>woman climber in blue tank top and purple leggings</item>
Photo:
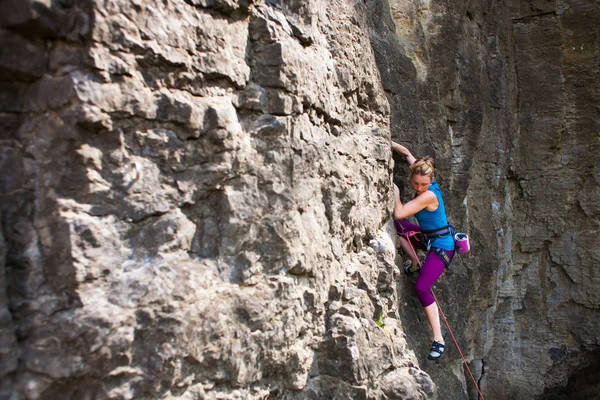
[[[406,158],[410,165],[410,184],[416,192],[411,201],[402,204],[400,189],[394,184],[394,224],[402,249],[410,259],[410,264],[405,265],[404,271],[409,274],[419,268],[421,270],[416,282],[416,291],[433,332],[433,344],[428,358],[437,360],[446,346],[431,287],[454,256],[454,228],[448,224],[442,190],[433,177],[433,159],[415,158],[406,147],[395,142],[392,142],[392,150]],[[412,215],[417,218],[419,225],[403,221]],[[423,266],[420,266],[415,248],[431,250]]]

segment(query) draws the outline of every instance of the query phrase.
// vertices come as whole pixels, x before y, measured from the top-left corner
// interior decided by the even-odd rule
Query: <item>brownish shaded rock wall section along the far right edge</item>
[[[573,383],[600,366],[600,7],[515,2],[511,17],[518,81],[507,174],[512,262],[498,274],[488,356],[497,372],[489,385],[507,398],[535,398],[546,388],[541,398],[555,399],[553,388],[568,383],[569,398],[596,398],[597,379]]]

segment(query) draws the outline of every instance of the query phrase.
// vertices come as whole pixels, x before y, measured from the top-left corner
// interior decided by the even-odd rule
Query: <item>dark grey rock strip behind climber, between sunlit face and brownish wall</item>
[[[506,399],[488,385],[495,361],[488,352],[496,339],[498,274],[511,264],[506,174],[517,131],[517,86],[509,10],[497,2],[390,0],[374,3],[371,15],[383,21],[373,23],[371,37],[391,106],[391,135],[415,154],[435,156],[449,218],[470,235],[473,250],[457,258],[434,289],[485,398]],[[406,168],[397,171],[396,181],[406,182]],[[401,189],[408,194],[409,188]],[[476,399],[454,344],[443,367],[432,367],[424,357],[427,326],[408,311],[402,318],[439,398]]]

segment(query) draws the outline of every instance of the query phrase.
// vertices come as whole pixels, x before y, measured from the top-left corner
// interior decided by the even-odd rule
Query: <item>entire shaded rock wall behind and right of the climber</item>
[[[600,7],[389,0],[372,15],[392,136],[437,156],[471,233],[441,302],[485,397],[595,398]]]

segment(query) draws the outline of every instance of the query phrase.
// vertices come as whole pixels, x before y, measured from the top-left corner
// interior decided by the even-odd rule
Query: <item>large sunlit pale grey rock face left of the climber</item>
[[[362,2],[1,14],[3,396],[433,396]]]

